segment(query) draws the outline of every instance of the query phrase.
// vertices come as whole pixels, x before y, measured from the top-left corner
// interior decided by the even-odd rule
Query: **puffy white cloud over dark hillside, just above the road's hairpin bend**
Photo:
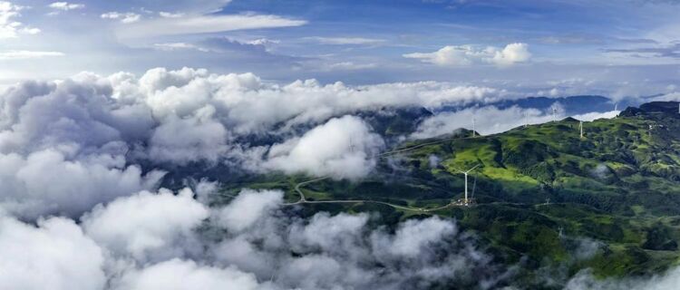
[[[374,168],[374,155],[383,146],[382,138],[372,133],[364,121],[345,116],[331,119],[299,139],[275,144],[263,167],[357,179]]]

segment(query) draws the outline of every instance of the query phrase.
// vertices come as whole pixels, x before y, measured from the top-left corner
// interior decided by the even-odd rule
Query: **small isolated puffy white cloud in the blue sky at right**
[[[471,45],[447,45],[433,53],[406,53],[403,57],[441,66],[470,66],[478,63],[509,66],[528,62],[531,53],[527,43],[510,43],[502,49],[493,46],[477,48]]]

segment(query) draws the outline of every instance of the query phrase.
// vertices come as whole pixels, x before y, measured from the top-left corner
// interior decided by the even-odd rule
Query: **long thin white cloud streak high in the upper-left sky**
[[[140,38],[174,34],[208,34],[247,29],[291,27],[304,24],[306,24],[304,20],[267,14],[186,15],[178,18],[161,17],[140,22],[139,24],[119,27],[117,34],[121,38]]]

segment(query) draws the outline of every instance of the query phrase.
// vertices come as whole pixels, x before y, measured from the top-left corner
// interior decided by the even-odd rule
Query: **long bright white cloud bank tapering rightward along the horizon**
[[[326,121],[361,110],[410,106],[495,102],[507,92],[489,87],[456,86],[445,82],[394,82],[347,86],[342,82],[322,85],[316,80],[272,85],[252,73],[210,74],[206,70],[153,69],[132,78],[126,92],[140,95],[159,118],[186,118],[202,108],[214,108],[216,119],[236,134],[263,132],[286,122],[287,127]]]

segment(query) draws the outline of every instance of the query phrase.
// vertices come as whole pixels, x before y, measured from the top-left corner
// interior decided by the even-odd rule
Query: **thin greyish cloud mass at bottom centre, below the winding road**
[[[227,235],[212,250],[220,265],[279,288],[484,288],[500,273],[450,220],[407,221],[389,233],[369,226],[364,214],[317,213],[301,220],[277,210],[260,213],[257,227]]]

